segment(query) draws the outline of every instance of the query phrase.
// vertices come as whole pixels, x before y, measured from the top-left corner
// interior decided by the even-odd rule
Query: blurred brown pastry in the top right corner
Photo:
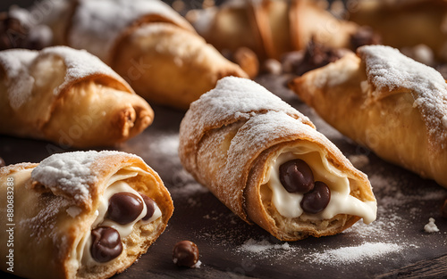
[[[384,45],[400,49],[427,45],[444,62],[447,61],[446,19],[444,0],[363,0],[350,13],[351,21],[375,29]]]

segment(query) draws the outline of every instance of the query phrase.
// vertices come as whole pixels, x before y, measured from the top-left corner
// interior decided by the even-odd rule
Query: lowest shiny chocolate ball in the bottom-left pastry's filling
[[[120,256],[122,242],[117,230],[110,226],[99,226],[91,231],[90,253],[97,262],[105,263]]]

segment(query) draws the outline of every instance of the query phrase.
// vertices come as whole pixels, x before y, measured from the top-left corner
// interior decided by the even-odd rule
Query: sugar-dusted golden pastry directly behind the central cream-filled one
[[[48,22],[55,37],[97,55],[149,103],[187,110],[219,78],[247,77],[162,1],[72,2]]]

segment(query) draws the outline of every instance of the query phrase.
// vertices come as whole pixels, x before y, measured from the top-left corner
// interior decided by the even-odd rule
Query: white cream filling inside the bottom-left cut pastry
[[[83,265],[87,265],[88,267],[91,266],[97,266],[97,265],[104,265],[107,263],[99,263],[94,258],[92,258],[90,247],[92,244],[92,237],[91,237],[91,230],[96,228],[97,226],[111,226],[113,227],[118,233],[120,234],[121,239],[125,238],[129,234],[131,234],[134,226],[144,226],[148,223],[151,223],[155,221],[157,218],[162,216],[161,210],[158,208],[158,206],[155,204],[155,211],[152,217],[150,217],[148,220],[142,220],[143,217],[146,216],[148,209],[146,207],[146,204],[143,202],[144,208],[139,214],[139,217],[137,217],[134,221],[132,221],[129,224],[118,224],[114,222],[113,220],[106,217],[107,215],[107,209],[109,206],[109,199],[115,194],[115,193],[133,193],[139,197],[141,201],[144,201],[141,195],[135,191],[131,185],[127,184],[125,182],[125,179],[138,176],[139,172],[144,172],[140,168],[123,168],[120,171],[118,171],[114,176],[112,176],[108,183],[107,187],[105,189],[104,195],[99,200],[99,207],[95,214],[97,215],[97,218],[93,222],[90,230],[80,239],[80,243],[77,246],[76,252],[77,255],[73,257],[77,259],[77,262]]]

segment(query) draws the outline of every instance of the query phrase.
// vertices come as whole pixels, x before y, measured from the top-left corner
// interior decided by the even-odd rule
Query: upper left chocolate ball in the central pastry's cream
[[[314,188],[314,174],[304,160],[289,160],[279,168],[281,184],[289,193],[308,193]]]

